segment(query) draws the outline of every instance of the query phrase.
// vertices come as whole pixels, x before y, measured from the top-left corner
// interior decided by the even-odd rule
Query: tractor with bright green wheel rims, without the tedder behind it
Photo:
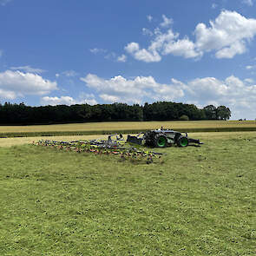
[[[127,141],[154,148],[166,148],[172,145],[185,148],[188,145],[200,146],[203,144],[200,140],[189,138],[187,133],[164,128],[149,130],[135,136],[128,135]]]

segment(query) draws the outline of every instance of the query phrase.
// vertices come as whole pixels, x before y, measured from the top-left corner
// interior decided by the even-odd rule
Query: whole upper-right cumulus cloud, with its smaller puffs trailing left
[[[162,27],[172,23],[171,19],[163,16]],[[165,24],[165,25],[164,25]],[[148,33],[147,29],[143,33]],[[128,43],[125,50],[136,60],[143,62],[160,62],[163,55],[199,58],[213,51],[216,58],[233,58],[246,52],[247,44],[256,35],[256,19],[246,18],[236,11],[223,10],[209,26],[199,23],[195,30],[195,40],[188,36],[180,38],[179,33],[172,29],[162,32],[154,30],[154,39],[148,49],[141,49],[139,43]]]

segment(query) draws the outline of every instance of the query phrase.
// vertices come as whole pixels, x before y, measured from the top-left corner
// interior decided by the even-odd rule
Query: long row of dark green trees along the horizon
[[[194,104],[175,102],[75,104],[71,106],[31,107],[24,103],[0,104],[0,124],[26,125],[86,121],[172,121],[172,120],[228,120],[231,111],[225,106],[208,105],[197,108]]]

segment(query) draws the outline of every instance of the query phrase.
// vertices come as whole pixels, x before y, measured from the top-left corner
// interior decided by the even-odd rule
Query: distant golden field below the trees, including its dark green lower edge
[[[93,135],[152,128],[173,128],[188,132],[256,130],[256,121],[113,121],[55,125],[0,126],[0,136]]]

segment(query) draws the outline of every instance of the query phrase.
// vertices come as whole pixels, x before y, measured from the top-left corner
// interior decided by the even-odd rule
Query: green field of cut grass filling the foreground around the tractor
[[[149,165],[1,147],[0,255],[255,255],[256,133],[189,135]]]

